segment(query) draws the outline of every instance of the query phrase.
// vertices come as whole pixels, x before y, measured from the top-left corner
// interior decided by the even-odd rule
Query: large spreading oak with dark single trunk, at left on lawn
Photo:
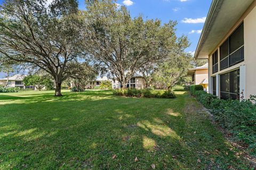
[[[6,0],[0,10],[0,53],[5,62],[35,65],[61,83],[84,62],[76,0]]]

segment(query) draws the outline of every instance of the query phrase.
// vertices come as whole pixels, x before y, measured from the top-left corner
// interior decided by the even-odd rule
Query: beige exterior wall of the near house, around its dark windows
[[[212,94],[212,77],[223,73],[227,73],[236,69],[242,70],[240,72],[240,92],[243,91],[244,98],[249,98],[250,95],[256,95],[256,53],[255,53],[255,39],[256,39],[256,1],[246,10],[244,15],[237,20],[237,23],[233,28],[227,33],[225,37],[221,40],[219,45],[213,50],[213,52],[209,55],[209,88],[210,93]],[[233,31],[244,22],[244,61],[240,62],[236,65],[230,66],[227,69],[223,69],[220,71],[220,46],[222,43],[233,33]],[[218,50],[219,56],[219,71],[217,73],[212,73],[212,54]],[[219,87],[220,84],[217,80],[217,96],[219,96]]]

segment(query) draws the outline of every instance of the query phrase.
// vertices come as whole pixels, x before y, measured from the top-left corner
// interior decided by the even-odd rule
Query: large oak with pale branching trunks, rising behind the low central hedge
[[[84,46],[114,79],[127,82],[145,65],[152,65],[183,52],[187,37],[175,35],[176,22],[132,18],[125,6],[115,1],[86,1]]]

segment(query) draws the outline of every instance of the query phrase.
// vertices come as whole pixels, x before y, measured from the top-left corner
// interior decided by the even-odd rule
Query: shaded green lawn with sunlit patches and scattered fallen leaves
[[[197,101],[175,94],[1,94],[0,169],[247,169]]]

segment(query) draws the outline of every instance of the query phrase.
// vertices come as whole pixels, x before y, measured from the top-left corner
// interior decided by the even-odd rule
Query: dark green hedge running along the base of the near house
[[[255,96],[243,101],[221,100],[205,91],[197,91],[196,98],[223,128],[231,132],[236,140],[247,143],[251,153],[256,155]]]

